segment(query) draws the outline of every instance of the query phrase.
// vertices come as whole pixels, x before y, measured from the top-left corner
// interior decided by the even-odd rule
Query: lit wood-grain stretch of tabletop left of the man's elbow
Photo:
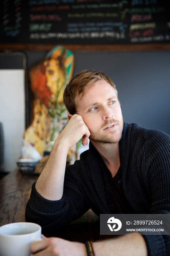
[[[38,175],[24,175],[14,170],[0,180],[0,226],[25,222],[25,208],[32,184]]]

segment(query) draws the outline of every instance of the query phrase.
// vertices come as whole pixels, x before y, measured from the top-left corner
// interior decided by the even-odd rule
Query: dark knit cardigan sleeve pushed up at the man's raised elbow
[[[43,234],[55,234],[55,230],[80,218],[89,210],[89,205],[79,187],[83,187],[79,180],[74,180],[72,172],[80,172],[80,162],[68,166],[65,173],[64,191],[60,200],[47,200],[32,185],[30,199],[27,202],[25,218],[27,222],[34,222],[42,227]]]

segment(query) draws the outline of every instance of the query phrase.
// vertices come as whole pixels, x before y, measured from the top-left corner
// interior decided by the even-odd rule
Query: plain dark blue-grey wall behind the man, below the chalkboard
[[[27,51],[28,68],[46,52]],[[74,72],[97,69],[116,84],[125,122],[170,134],[170,52],[74,52]]]

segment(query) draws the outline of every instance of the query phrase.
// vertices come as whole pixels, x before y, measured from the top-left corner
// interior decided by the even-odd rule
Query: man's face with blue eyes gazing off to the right
[[[76,110],[96,143],[117,143],[121,139],[123,117],[115,89],[105,80],[89,86],[85,95],[76,98]]]

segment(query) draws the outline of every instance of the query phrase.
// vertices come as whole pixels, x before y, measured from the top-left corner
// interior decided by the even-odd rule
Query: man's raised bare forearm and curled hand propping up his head
[[[49,160],[46,163],[35,188],[46,199],[59,200],[63,195],[63,184],[67,153],[81,138],[85,146],[90,131],[81,116],[71,115],[69,122],[54,143]]]

